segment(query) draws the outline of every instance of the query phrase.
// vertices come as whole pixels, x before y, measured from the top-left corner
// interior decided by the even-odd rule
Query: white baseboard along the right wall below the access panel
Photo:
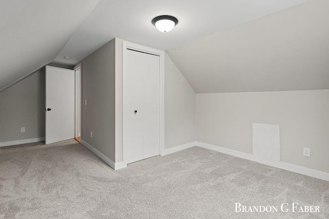
[[[235,151],[235,150],[222,148],[222,147],[218,147],[218,146],[214,146],[214,145],[209,145],[209,144],[202,143],[202,142],[196,142],[196,145],[199,147],[202,147],[202,148],[213,150],[213,151],[218,151],[221,153],[226,153],[226,154],[230,154],[233,156],[241,157],[241,158],[244,158],[249,161],[258,162],[261,164],[266,164],[266,165],[269,165],[272,167],[277,167],[277,168],[288,170],[291,172],[300,173],[300,174],[307,175],[307,176],[312,176],[314,178],[319,178],[320,180],[329,181],[329,173],[321,172],[318,170],[308,169],[305,167],[300,167],[300,166],[296,166],[293,164],[288,164],[288,163],[284,163],[284,162],[280,162],[280,161],[272,161],[272,160],[268,160],[263,157],[254,156],[252,154],[243,153],[240,151]]]

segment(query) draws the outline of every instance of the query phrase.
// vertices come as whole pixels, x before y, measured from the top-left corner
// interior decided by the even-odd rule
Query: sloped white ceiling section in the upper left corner
[[[50,63],[99,0],[0,2],[0,91]]]

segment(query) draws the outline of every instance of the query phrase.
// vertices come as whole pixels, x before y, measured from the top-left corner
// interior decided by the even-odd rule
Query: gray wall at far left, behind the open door
[[[25,132],[21,133],[21,127]],[[45,69],[0,92],[0,143],[45,136]]]

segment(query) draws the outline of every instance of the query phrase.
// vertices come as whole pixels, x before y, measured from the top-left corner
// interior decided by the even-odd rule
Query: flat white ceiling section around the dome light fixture
[[[307,0],[102,0],[56,57],[55,63],[74,65],[114,37],[170,49],[182,43],[242,24]],[[158,31],[154,17],[176,16],[178,25]],[[70,56],[71,59],[64,59]]]

